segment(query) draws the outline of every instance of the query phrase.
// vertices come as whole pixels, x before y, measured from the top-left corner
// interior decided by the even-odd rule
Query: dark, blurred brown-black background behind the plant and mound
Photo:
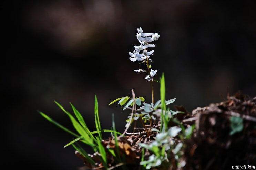
[[[5,169],[76,170],[83,166],[73,136],[37,110],[72,128],[71,102],[95,130],[97,95],[102,128],[114,113],[123,132],[130,111],[116,98],[145,97],[150,83],[129,60],[137,27],[158,32],[155,79],[164,72],[166,99],[192,112],[226,99],[256,95],[256,1],[44,0],[1,2],[2,155]],[[154,83],[155,100],[159,84]],[[171,110],[175,110],[170,105]],[[106,134],[108,137],[110,134]]]

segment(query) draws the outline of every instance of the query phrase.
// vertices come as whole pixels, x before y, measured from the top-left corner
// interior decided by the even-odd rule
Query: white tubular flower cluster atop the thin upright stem
[[[138,28],[138,33],[137,33],[137,39],[141,43],[139,46],[134,46],[135,50],[133,53],[129,52],[129,55],[131,56],[129,59],[134,62],[134,61],[145,61],[148,59],[149,61],[152,61],[150,58],[150,55],[153,55],[154,50],[148,52],[147,48],[148,47],[155,47],[155,44],[150,44],[152,41],[156,41],[159,39],[160,35],[158,33],[143,33],[142,28]],[[151,36],[151,37],[149,37]],[[140,51],[143,50],[142,53]],[[136,72],[146,72],[145,70],[139,69],[139,70],[134,70]],[[150,76],[148,75],[145,77],[148,81],[151,81],[153,79],[153,76],[156,74],[157,70],[151,70],[150,71]]]

